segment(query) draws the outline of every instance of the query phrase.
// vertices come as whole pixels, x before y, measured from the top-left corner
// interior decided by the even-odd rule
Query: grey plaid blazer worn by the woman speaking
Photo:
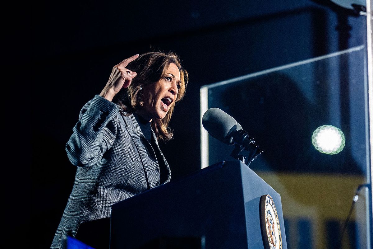
[[[110,217],[114,203],[170,181],[170,167],[152,133],[156,148],[134,115],[122,116],[115,103],[101,96],[83,106],[66,144],[69,160],[77,166],[75,181],[51,248],[63,248],[62,236],[75,237],[82,222]],[[167,167],[163,183],[154,150]]]

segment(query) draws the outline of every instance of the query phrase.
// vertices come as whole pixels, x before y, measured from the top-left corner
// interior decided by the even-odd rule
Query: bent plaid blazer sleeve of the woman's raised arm
[[[86,103],[80,111],[79,121],[66,143],[66,152],[75,166],[93,166],[113,146],[119,109],[117,105],[99,95]]]

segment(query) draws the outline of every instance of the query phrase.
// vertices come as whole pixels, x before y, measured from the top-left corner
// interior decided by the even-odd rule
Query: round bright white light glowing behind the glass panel
[[[319,152],[337,154],[345,147],[345,135],[341,129],[333,125],[318,127],[312,135],[312,144]]]

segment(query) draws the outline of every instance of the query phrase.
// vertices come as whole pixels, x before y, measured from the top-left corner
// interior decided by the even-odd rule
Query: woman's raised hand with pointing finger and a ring
[[[127,69],[126,66],[138,57],[139,55],[131,56],[113,67],[109,80],[101,91],[100,96],[112,101],[120,89],[127,88],[131,84],[132,79],[136,77],[137,73]]]

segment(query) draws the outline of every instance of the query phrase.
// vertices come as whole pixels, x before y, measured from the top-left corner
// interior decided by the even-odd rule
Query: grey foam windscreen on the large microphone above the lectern
[[[232,118],[221,109],[208,109],[202,116],[202,125],[211,137],[214,137],[223,143],[233,143],[231,133],[233,130],[237,129],[236,119]]]

